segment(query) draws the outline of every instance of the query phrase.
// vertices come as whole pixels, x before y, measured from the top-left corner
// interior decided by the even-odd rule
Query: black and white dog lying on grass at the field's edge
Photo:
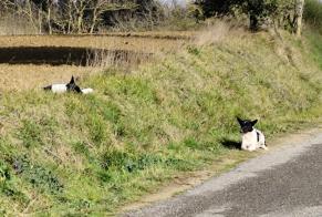
[[[75,92],[82,94],[89,94],[93,92],[93,89],[81,89],[76,85],[74,76],[72,76],[70,83],[67,84],[52,84],[43,87],[45,91],[51,91],[53,93],[65,93],[65,92]]]

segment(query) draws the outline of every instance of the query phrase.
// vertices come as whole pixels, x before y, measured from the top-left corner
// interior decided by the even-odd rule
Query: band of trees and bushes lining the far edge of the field
[[[310,0],[309,0],[310,1]],[[169,1],[168,1],[169,2]],[[28,20],[38,33],[95,33],[111,30],[184,30],[209,17],[246,17],[252,31],[262,25],[301,29],[304,0],[194,0],[183,8],[157,0],[3,0],[2,22]]]

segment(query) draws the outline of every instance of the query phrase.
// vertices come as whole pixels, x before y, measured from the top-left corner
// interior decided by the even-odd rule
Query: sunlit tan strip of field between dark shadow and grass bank
[[[67,82],[72,75],[84,78],[98,69],[52,65],[0,64],[0,92],[40,89],[51,83]]]

